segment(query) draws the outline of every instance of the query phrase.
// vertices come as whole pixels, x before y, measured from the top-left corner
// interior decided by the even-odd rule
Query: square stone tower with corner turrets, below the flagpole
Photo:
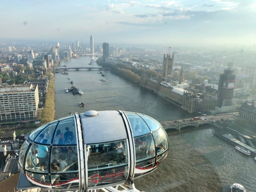
[[[165,80],[170,79],[173,77],[173,61],[174,61],[174,54],[171,57],[171,53],[167,53],[164,60],[163,60],[163,78]]]

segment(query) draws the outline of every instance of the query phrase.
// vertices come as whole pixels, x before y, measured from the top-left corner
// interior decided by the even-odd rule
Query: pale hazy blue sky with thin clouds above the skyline
[[[253,45],[255,13],[255,0],[6,0],[0,38]]]

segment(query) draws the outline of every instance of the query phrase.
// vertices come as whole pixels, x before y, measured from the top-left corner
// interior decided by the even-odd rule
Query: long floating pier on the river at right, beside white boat
[[[233,130],[233,131],[235,131],[235,130]],[[236,132],[236,131],[235,131]],[[227,141],[227,142],[229,142],[230,144],[233,144],[233,145],[240,145],[240,146],[242,146],[242,147],[244,147],[244,148],[246,148],[246,149],[248,149],[248,150],[250,150],[251,151],[251,154],[253,155],[253,156],[256,156],[256,149],[254,148],[254,147],[252,147],[252,146],[249,146],[248,144],[252,144],[253,145],[253,143],[252,143],[252,141],[249,139],[249,140],[244,140],[243,139],[243,136],[246,136],[246,135],[244,135],[244,134],[241,134],[241,133],[239,133],[239,132],[237,132],[237,135],[238,135],[238,137],[239,137],[239,139],[241,139],[241,141],[239,141],[239,140],[237,140],[236,138],[234,138],[233,136],[230,136],[230,135],[228,135],[228,134],[221,134],[221,133],[214,133],[214,135],[216,135],[216,136],[218,136],[219,138],[221,138],[221,139],[224,139],[225,141]],[[241,136],[241,135],[243,135],[243,136]],[[247,137],[249,137],[249,136],[247,136]],[[250,137],[249,137],[250,138]],[[252,138],[251,138],[252,139]],[[250,141],[250,142],[249,142]],[[248,144],[247,144],[247,143]],[[253,145],[254,146],[254,145]]]

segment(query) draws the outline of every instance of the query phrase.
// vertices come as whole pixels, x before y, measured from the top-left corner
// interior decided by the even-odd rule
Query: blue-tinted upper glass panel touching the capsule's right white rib
[[[125,113],[132,127],[133,137],[150,133],[147,124],[135,113]]]

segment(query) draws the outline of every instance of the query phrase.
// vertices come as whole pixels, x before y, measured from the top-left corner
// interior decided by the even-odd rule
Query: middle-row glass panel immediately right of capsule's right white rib
[[[155,156],[155,146],[152,135],[134,138],[136,161]]]

